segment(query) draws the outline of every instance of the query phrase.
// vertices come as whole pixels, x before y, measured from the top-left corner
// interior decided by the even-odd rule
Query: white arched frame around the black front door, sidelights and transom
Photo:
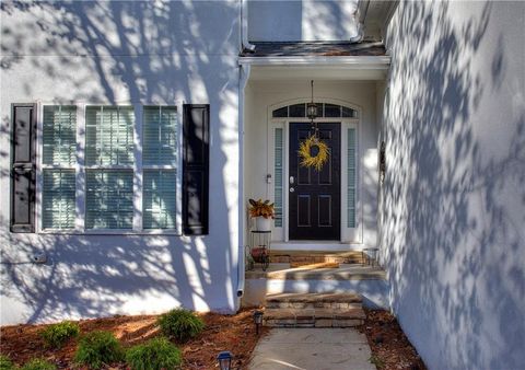
[[[340,222],[341,222],[341,233],[339,243],[345,244],[362,244],[363,243],[363,216],[362,216],[362,207],[361,207],[361,184],[362,184],[362,165],[361,159],[363,158],[363,153],[361,153],[361,129],[360,123],[363,116],[362,108],[355,104],[335,100],[335,99],[323,99],[317,97],[315,99],[316,103],[327,103],[327,104],[336,104],[341,105],[345,107],[352,108],[358,112],[357,118],[349,118],[349,117],[329,117],[329,118],[318,118],[316,122],[318,123],[334,123],[339,122],[341,123],[341,215],[340,215]],[[271,175],[272,183],[267,184],[267,197],[268,199],[275,199],[275,188],[273,188],[273,181],[275,181],[275,130],[276,128],[283,129],[283,185],[282,185],[282,228],[276,228],[272,224],[272,241],[273,242],[290,242],[289,238],[289,178],[290,178],[290,123],[310,123],[307,118],[285,118],[285,117],[272,117],[272,112],[275,109],[279,109],[281,107],[293,105],[293,104],[302,104],[307,103],[304,99],[298,100],[290,100],[285,102],[280,102],[278,104],[270,105],[267,111],[268,117],[268,130],[267,130],[267,142],[268,142],[268,152],[267,152],[267,173]],[[355,128],[355,228],[348,228],[348,210],[347,210],[347,146],[348,146],[348,129]],[[300,243],[308,242],[308,241],[301,241]]]

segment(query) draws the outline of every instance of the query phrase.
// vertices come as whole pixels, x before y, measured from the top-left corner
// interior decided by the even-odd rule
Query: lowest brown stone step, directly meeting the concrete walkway
[[[269,327],[353,327],[364,324],[362,308],[266,309],[262,325]]]

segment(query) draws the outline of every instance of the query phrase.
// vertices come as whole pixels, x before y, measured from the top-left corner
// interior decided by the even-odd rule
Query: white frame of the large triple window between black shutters
[[[54,102],[37,101],[37,130],[36,130],[36,196],[35,196],[35,224],[36,233],[40,234],[117,234],[117,235],[183,235],[183,101],[176,101],[172,104],[166,103],[131,103],[129,101],[119,101],[115,103],[108,102]],[[74,105],[77,106],[77,162],[74,164],[75,173],[75,222],[74,229],[43,229],[43,171],[44,169],[66,169],[65,166],[44,165],[43,164],[43,128],[44,128],[44,106],[46,105]],[[109,169],[109,166],[85,165],[85,108],[86,106],[119,106],[128,105],[133,107],[135,127],[133,127],[133,164],[110,166],[115,170],[132,170],[133,171],[133,220],[132,229],[85,229],[85,170]],[[177,108],[177,163],[176,166],[143,166],[142,165],[142,119],[144,106],[172,106]],[[73,169],[67,167],[67,169]],[[149,169],[175,169],[176,170],[176,215],[175,229],[143,229],[142,228],[142,177],[143,170]]]

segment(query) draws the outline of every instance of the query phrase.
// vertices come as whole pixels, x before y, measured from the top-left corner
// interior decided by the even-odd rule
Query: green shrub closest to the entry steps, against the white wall
[[[188,310],[172,310],[159,319],[162,333],[179,342],[186,342],[197,336],[205,328],[205,323]]]

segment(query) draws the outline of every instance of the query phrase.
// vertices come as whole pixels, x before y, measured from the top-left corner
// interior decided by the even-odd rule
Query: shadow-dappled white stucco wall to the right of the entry
[[[401,2],[381,244],[429,369],[525,368],[525,3]]]

